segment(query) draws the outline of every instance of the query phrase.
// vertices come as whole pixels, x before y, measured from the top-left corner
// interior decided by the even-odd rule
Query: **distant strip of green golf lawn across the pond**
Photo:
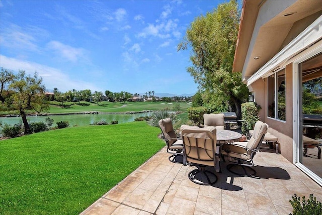
[[[58,102],[55,102],[59,104]],[[173,102],[173,104],[168,104],[169,102],[160,101],[126,101],[125,103],[120,102],[110,102],[103,101],[99,102],[99,105],[94,102],[82,101],[81,104],[78,102],[64,102],[64,104],[71,104],[66,107],[61,107],[59,105],[50,105],[49,113],[73,113],[73,112],[139,112],[144,110],[155,111],[159,109],[164,109],[165,107],[175,107],[180,104],[180,110],[187,110],[191,105],[187,102]]]

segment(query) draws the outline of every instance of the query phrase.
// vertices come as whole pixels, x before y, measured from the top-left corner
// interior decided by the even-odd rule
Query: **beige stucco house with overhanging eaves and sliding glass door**
[[[233,72],[241,72],[261,105],[261,121],[278,137],[281,154],[322,185],[316,163],[322,117],[307,116],[303,102],[308,85],[318,87],[322,77],[322,1],[244,0]],[[316,144],[307,145],[308,137]],[[309,156],[308,146],[316,150]]]

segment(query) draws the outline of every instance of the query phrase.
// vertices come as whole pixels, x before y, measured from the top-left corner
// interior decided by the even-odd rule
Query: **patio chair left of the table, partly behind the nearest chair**
[[[177,137],[170,118],[159,120],[159,127],[167,143],[167,152],[172,154],[169,160],[173,163],[183,163],[183,142]]]

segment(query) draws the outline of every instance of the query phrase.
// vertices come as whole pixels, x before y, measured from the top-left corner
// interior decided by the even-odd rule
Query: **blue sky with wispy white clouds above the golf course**
[[[194,94],[191,50],[177,45],[224,2],[0,0],[0,66],[62,92]]]

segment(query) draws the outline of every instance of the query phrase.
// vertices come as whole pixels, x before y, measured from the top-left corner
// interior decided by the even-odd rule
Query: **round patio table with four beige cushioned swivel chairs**
[[[158,124],[167,143],[167,151],[174,163],[195,166],[188,173],[191,181],[201,185],[216,183],[215,172],[220,173],[220,163],[231,162],[227,170],[245,176],[255,176],[253,158],[258,152],[268,125],[257,121],[248,140],[238,132],[225,129],[224,114],[204,114],[204,127],[182,125],[180,136],[174,131],[170,118],[159,120]],[[215,172],[211,171],[214,167]]]

